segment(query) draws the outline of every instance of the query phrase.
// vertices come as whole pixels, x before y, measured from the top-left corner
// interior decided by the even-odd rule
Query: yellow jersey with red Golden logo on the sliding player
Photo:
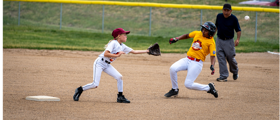
[[[201,31],[194,31],[189,34],[190,38],[194,38],[191,48],[187,52],[187,56],[205,61],[206,56],[216,56],[216,44],[213,37],[210,39],[202,36]]]

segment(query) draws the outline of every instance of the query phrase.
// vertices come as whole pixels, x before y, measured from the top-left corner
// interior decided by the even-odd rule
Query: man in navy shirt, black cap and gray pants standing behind
[[[229,71],[233,73],[233,80],[238,78],[238,67],[235,59],[235,46],[238,46],[241,29],[237,18],[231,14],[230,4],[224,4],[223,13],[217,15],[217,39],[216,51],[220,68],[220,77],[217,81],[227,81]],[[216,31],[217,31],[216,30]],[[234,30],[237,32],[237,39],[234,41]],[[227,70],[226,61],[229,63],[229,71]]]

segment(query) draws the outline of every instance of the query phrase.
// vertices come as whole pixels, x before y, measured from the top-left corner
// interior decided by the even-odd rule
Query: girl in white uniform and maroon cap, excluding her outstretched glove
[[[93,82],[83,87],[78,87],[75,90],[75,94],[73,99],[75,101],[79,100],[81,93],[85,90],[97,88],[100,82],[101,72],[105,72],[108,75],[114,77],[117,80],[118,92],[117,102],[119,103],[130,103],[128,99],[122,95],[122,75],[110,64],[115,61],[122,54],[133,53],[133,54],[141,54],[148,53],[149,50],[133,50],[132,48],[123,44],[127,40],[127,34],[130,31],[125,31],[122,28],[117,28],[112,32],[112,36],[114,40],[110,40],[108,44],[105,46],[105,51],[101,53],[98,58],[94,61],[93,65]]]

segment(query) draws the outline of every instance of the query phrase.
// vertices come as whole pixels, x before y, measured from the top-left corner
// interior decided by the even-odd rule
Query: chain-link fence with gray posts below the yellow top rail
[[[200,30],[199,25],[204,22],[215,23],[217,14],[221,12],[210,9],[3,1],[3,26],[27,25],[94,33],[111,33],[121,27],[131,31],[130,35],[178,37]],[[279,13],[233,10],[232,14],[239,20],[242,30],[240,41],[279,44]],[[250,16],[249,21],[244,20],[246,15]]]

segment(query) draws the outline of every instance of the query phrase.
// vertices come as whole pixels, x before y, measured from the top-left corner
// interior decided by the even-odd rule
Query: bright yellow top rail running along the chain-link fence
[[[103,5],[123,5],[123,6],[142,6],[142,7],[172,7],[172,8],[189,8],[189,9],[219,9],[219,10],[223,9],[223,6],[215,6],[215,5],[166,4],[166,3],[152,3],[152,2],[122,2],[122,1],[101,1],[101,0],[3,0],[3,1],[103,4]],[[263,7],[232,6],[232,10],[280,13],[280,9],[263,8]]]

